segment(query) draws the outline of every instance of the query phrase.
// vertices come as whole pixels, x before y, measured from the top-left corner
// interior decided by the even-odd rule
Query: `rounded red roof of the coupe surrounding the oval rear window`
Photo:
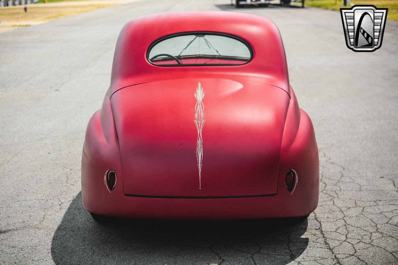
[[[146,59],[154,41],[174,34],[215,32],[236,36],[253,49],[250,62],[238,66],[162,67]],[[135,84],[184,78],[248,79],[289,93],[285,50],[275,23],[262,16],[227,11],[153,14],[128,22],[119,34],[113,58],[110,93]]]

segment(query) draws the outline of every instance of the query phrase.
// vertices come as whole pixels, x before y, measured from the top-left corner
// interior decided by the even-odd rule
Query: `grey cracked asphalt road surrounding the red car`
[[[0,35],[0,264],[397,264],[398,23],[381,49],[354,53],[339,12],[314,8],[239,10],[279,27],[314,123],[321,192],[308,219],[91,219],[80,158],[117,35],[137,16],[179,10],[235,11],[228,0],[148,0]]]

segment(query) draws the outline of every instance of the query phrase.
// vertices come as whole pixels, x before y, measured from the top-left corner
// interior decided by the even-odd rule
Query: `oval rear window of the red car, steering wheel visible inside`
[[[252,59],[242,39],[217,33],[189,33],[155,41],[147,59],[158,66],[240,65]]]

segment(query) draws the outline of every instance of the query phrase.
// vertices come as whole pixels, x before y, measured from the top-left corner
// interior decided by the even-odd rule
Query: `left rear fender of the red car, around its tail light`
[[[115,171],[117,175],[113,191],[109,191],[105,185],[105,173],[108,170]],[[117,207],[112,199],[117,195],[124,195],[123,176],[108,90],[101,109],[92,115],[86,129],[82,154],[83,207],[89,212],[104,214],[103,207]]]

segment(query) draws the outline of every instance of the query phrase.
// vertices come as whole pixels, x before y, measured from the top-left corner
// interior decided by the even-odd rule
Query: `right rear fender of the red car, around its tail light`
[[[285,174],[292,169],[297,172],[297,184],[293,191],[288,191]],[[307,113],[298,107],[292,89],[281,144],[278,195],[300,209],[298,216],[310,214],[318,205],[319,158],[314,127]]]

